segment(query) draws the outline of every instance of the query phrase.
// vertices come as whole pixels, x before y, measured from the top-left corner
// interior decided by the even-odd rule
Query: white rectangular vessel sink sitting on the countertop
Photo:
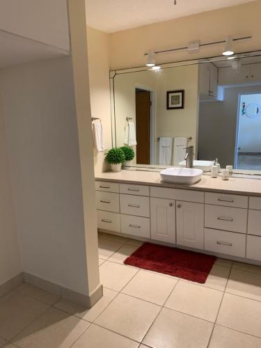
[[[173,184],[195,184],[202,174],[203,171],[196,168],[167,168],[160,172],[162,181]]]

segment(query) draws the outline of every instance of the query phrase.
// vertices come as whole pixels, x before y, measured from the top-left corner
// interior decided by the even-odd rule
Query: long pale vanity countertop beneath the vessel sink
[[[119,173],[99,173],[95,176],[95,180],[261,196],[261,180],[239,177],[230,177],[228,181],[225,181],[222,180],[221,177],[212,178],[209,175],[203,175],[202,179],[196,184],[185,185],[161,182],[161,177],[158,172],[122,170]]]

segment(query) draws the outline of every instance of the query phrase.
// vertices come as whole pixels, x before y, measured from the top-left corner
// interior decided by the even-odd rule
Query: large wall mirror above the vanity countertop
[[[111,95],[113,146],[134,148],[130,166],[184,166],[192,145],[196,161],[261,174],[261,51],[113,71]]]

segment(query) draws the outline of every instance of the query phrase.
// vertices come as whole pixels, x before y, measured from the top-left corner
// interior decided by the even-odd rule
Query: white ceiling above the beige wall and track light
[[[88,25],[107,33],[253,0],[88,0]]]

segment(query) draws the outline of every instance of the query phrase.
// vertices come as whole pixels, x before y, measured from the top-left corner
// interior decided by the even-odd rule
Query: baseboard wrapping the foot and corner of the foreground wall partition
[[[29,274],[29,273],[24,272],[23,276],[24,276],[24,283],[31,284],[35,287],[40,287],[40,289],[42,290],[61,296],[61,298],[66,299],[68,301],[79,303],[82,306],[86,306],[87,308],[93,307],[95,303],[99,301],[103,295],[102,285],[99,285],[92,294],[84,295],[84,294],[80,294],[79,292],[75,292],[73,290],[67,289],[66,287],[62,287],[61,285],[57,285],[55,283],[49,282],[49,280],[45,280],[37,276],[33,276],[32,274]]]

